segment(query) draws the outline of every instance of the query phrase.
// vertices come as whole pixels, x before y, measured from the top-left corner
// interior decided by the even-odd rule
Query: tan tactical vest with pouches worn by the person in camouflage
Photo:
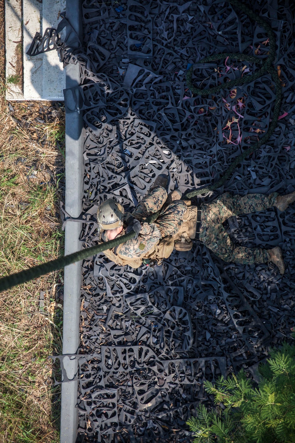
[[[115,264],[119,264],[122,266],[129,265],[131,268],[139,268],[142,264],[142,260],[151,260],[153,263],[160,264],[164,258],[168,258],[173,249],[177,251],[189,251],[192,249],[192,238],[195,238],[195,227],[197,221],[197,207],[190,206],[190,200],[185,201],[188,205],[188,209],[184,213],[183,223],[176,234],[161,238],[161,240],[153,245],[153,248],[150,249],[147,253],[140,257],[126,257],[120,255],[120,249],[123,246],[123,243],[119,245],[116,249],[116,254],[114,253],[114,249],[107,249],[103,253],[113,261]]]

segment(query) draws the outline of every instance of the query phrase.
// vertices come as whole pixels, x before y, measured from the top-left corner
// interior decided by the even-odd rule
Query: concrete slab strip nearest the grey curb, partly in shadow
[[[61,21],[59,14],[65,10],[65,0],[43,0],[42,29],[57,27]],[[61,40],[65,39],[65,30],[61,31]],[[49,100],[64,100],[65,70],[59,61],[57,51],[43,54],[43,97]]]

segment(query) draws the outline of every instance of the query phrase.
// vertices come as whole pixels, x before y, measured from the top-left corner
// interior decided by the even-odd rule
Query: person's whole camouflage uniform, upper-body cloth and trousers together
[[[209,204],[202,204],[199,240],[222,260],[227,262],[254,264],[270,260],[266,249],[235,246],[222,226],[222,223],[234,215],[250,214],[263,211],[276,202],[279,194],[234,195],[222,194]],[[133,212],[134,218],[143,221],[150,214],[160,210],[167,199],[166,190],[158,186],[147,194]],[[142,223],[142,230],[135,240],[126,241],[119,249],[119,255],[128,258],[140,257],[148,253],[163,237],[175,234],[181,227],[187,205],[182,200],[171,202],[154,223]],[[124,218],[130,217],[126,213]],[[120,235],[123,235],[125,230]]]

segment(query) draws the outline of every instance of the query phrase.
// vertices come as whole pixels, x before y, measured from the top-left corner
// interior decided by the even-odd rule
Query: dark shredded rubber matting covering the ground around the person
[[[295,190],[295,21],[287,1],[249,4],[276,34],[284,97],[279,122],[268,144],[198,203],[225,191]],[[84,118],[80,241],[88,247],[98,239],[96,210],[103,199],[115,195],[132,211],[163,172],[169,190],[216,182],[267,130],[276,91],[269,74],[218,96],[192,96],[188,89],[188,68],[205,56],[267,57],[264,29],[227,2],[85,0],[82,12],[84,42],[71,55],[80,63],[82,85],[65,91],[65,105]],[[256,69],[225,59],[197,65],[193,81],[208,88]],[[268,346],[290,340],[295,322],[294,222],[292,205],[225,223],[238,245],[279,245],[283,277],[268,264],[224,263],[199,244],[154,268],[124,268],[103,254],[84,261],[83,355],[72,357],[79,364],[80,441],[188,442],[185,421],[200,402],[213,405],[203,380],[241,368],[257,377]]]

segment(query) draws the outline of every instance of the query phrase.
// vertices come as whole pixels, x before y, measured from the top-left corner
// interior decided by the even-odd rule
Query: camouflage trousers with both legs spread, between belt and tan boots
[[[269,260],[266,249],[236,247],[222,223],[233,215],[263,211],[274,205],[279,194],[249,194],[243,197],[222,194],[208,205],[202,205],[199,240],[224,261],[241,264],[265,263]]]

